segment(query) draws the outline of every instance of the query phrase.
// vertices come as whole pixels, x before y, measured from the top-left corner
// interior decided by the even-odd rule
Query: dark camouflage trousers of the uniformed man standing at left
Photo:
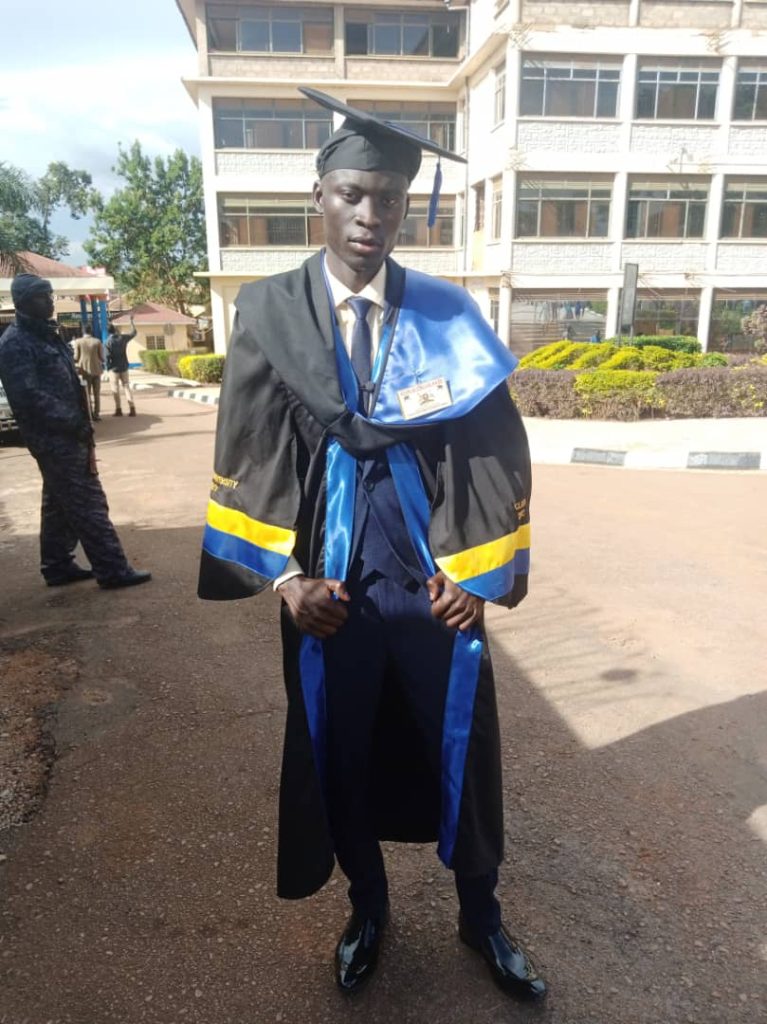
[[[45,579],[67,572],[78,541],[99,582],[127,572],[101,481],[90,472],[88,445],[73,441],[35,458],[43,477],[40,571]]]

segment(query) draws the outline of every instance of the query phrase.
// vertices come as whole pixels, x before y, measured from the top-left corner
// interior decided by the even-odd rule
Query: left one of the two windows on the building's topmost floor
[[[208,46],[214,52],[331,53],[333,8],[209,4]]]

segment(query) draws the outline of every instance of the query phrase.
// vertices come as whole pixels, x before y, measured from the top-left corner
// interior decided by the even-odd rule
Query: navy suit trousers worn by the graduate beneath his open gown
[[[387,898],[383,855],[371,819],[371,752],[384,676],[393,668],[424,751],[438,779],[442,717],[455,632],[431,614],[423,587],[404,588],[373,573],[347,582],[349,617],[325,647],[328,792],[336,856],[352,905],[366,915]],[[477,934],[500,927],[498,871],[456,874],[461,909]]]

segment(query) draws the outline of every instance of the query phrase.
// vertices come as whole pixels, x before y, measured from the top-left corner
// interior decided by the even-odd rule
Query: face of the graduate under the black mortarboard
[[[394,248],[408,213],[408,178],[394,171],[331,171],[314,184],[328,265],[349,288],[368,284]]]

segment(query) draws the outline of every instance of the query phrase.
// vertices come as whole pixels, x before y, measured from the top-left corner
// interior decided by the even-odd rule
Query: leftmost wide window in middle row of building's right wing
[[[517,191],[517,238],[606,238],[610,198],[608,181],[521,180]]]

